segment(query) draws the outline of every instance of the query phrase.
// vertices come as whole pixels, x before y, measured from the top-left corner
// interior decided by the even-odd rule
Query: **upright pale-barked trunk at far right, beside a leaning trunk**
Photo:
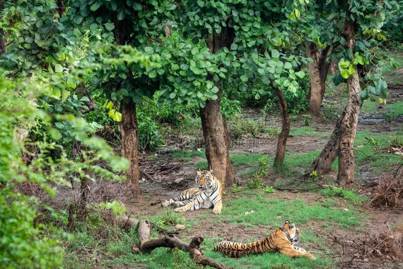
[[[354,31],[355,25],[346,20],[343,34],[347,41],[348,49],[354,54]],[[351,59],[353,61],[353,59]],[[351,186],[354,183],[354,138],[357,131],[358,115],[360,113],[361,98],[358,95],[361,92],[359,75],[356,71],[348,79],[349,96],[345,108],[345,115],[340,127],[339,141],[339,173],[337,179],[340,185]]]

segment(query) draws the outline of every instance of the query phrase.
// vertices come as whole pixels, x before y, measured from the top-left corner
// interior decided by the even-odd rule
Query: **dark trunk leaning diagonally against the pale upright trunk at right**
[[[339,155],[340,126],[344,118],[345,111],[336,122],[331,137],[323,148],[320,155],[313,161],[311,166],[305,171],[304,175],[309,175],[316,171],[317,175],[324,175],[330,171],[331,165]]]

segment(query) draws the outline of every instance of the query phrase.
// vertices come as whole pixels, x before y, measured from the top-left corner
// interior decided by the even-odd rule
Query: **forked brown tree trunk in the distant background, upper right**
[[[319,52],[315,43],[306,43],[306,54],[313,59],[313,62],[308,62],[308,70],[310,74],[308,93],[309,114],[315,117],[320,116],[320,106],[323,101],[325,82],[330,68],[330,63],[326,62],[329,50],[331,50],[331,47],[326,46]]]

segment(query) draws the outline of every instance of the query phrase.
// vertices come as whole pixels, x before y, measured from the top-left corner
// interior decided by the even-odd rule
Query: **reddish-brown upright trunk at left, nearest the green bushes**
[[[136,104],[130,101],[127,103],[124,99],[120,102],[120,113],[122,120],[119,123],[121,133],[121,156],[130,161],[127,171],[127,182],[131,184],[131,193],[139,197],[140,190],[140,170],[139,170],[139,127],[136,115]]]

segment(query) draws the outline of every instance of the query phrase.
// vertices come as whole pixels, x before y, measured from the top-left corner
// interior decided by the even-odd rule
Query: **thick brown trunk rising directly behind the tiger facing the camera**
[[[216,53],[223,47],[230,47],[235,37],[234,29],[225,27],[220,35],[211,35],[206,40],[207,46],[212,53]],[[209,75],[207,80],[214,83],[219,88],[217,100],[207,100],[205,107],[200,107],[201,127],[206,143],[206,157],[209,167],[214,169],[215,176],[224,186],[230,187],[237,183],[235,173],[231,165],[229,156],[229,146],[231,142],[229,129],[221,114],[221,97],[223,94],[223,85],[214,81],[213,76]]]

